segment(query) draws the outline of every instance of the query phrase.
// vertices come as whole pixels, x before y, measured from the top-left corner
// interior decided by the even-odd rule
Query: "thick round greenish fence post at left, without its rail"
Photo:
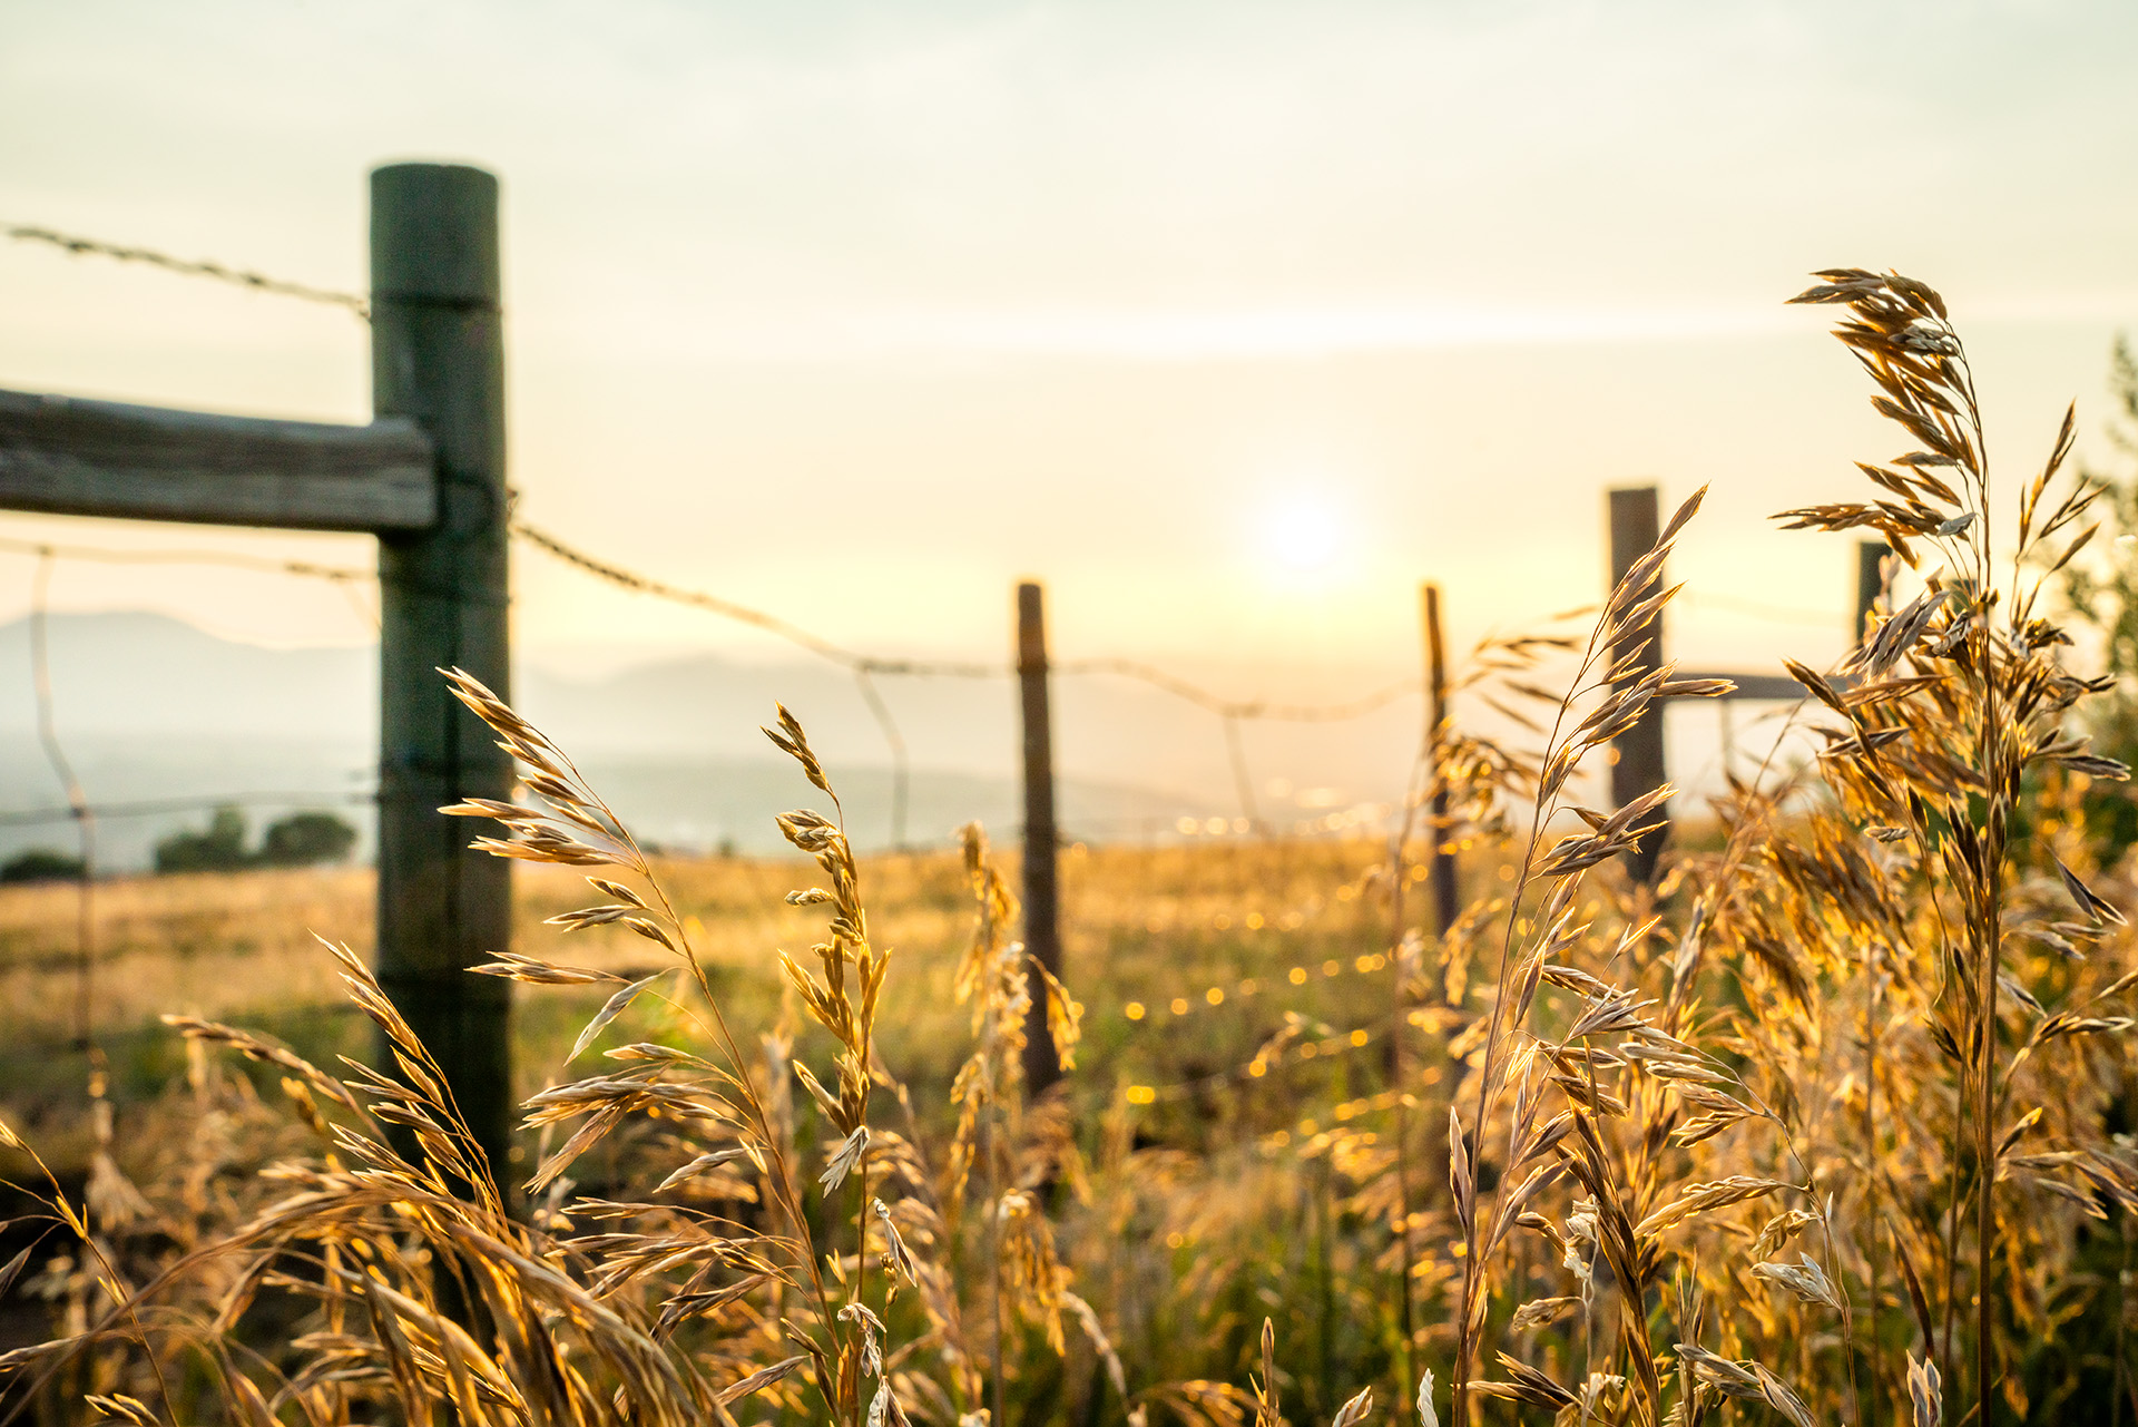
[[[513,787],[511,759],[436,674],[458,665],[511,695],[498,297],[498,180],[374,169],[372,409],[413,417],[438,460],[436,524],[378,537],[378,980],[505,1187],[509,982],[464,967],[511,948],[511,864],[468,851],[466,828],[436,811]]]

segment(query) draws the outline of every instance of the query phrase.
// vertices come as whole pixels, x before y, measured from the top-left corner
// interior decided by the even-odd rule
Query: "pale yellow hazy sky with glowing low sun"
[[[1343,695],[1420,578],[1460,638],[1593,597],[1629,481],[1715,484],[1687,655],[1832,655],[1849,552],[1764,516],[1899,447],[1781,300],[1939,285],[2038,462],[2138,323],[2134,73],[2138,11],[2059,0],[0,0],[0,220],[361,287],[366,169],[481,163],[530,520],[855,646],[998,653],[1037,573],[1065,653]],[[0,385],[361,419],[366,332],[4,244]],[[0,516],[36,535],[368,558]],[[515,578],[552,657],[778,653]],[[368,635],[231,571],[56,599]]]

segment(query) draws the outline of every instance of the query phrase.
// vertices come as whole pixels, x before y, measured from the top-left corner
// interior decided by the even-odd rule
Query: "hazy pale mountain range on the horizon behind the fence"
[[[254,824],[336,807],[368,834],[355,798],[376,757],[374,648],[261,648],[158,614],[60,614],[49,635],[66,755],[92,802],[118,804],[98,828],[107,866],[145,866],[154,841],[203,822],[214,798],[244,802]],[[1009,680],[879,685],[913,766],[909,841],[939,843],[973,817],[1007,834],[1018,822]],[[693,655],[573,678],[524,663],[513,700],[575,751],[641,834],[740,849],[776,847],[772,817],[815,796],[757,732],[785,702],[840,783],[855,839],[892,841],[885,734],[842,670]],[[1388,798],[1413,742],[1415,710],[1403,704],[1347,725],[1251,725],[1257,811]],[[1240,811],[1219,721],[1144,685],[1058,680],[1056,766],[1071,837],[1146,837],[1178,817]],[[171,807],[182,802],[203,807]],[[36,740],[28,625],[0,625],[0,858],[68,847],[64,819],[21,822],[60,804]]]

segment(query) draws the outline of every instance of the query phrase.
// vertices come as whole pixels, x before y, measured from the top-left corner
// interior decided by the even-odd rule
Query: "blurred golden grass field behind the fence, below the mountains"
[[[1379,1033],[1390,1003],[1381,956],[1388,899],[1362,881],[1381,862],[1385,845],[1375,839],[1069,847],[1065,961],[1071,988],[1088,1003],[1080,1100],[1095,1104],[1146,1085],[1172,1095],[1176,1085],[1238,1070],[1283,1031],[1287,1012],[1326,1031],[1370,1025]],[[1005,866],[1013,877],[1013,851]],[[776,952],[800,952],[815,937],[810,914],[783,899],[810,871],[797,858],[661,864],[740,1025],[770,1029],[783,1016]],[[951,973],[971,935],[964,869],[958,854],[913,854],[870,858],[862,875],[877,935],[898,958],[887,988],[885,1063],[919,1100],[941,1100],[969,1029],[969,1012],[951,997]],[[584,881],[567,869],[522,869],[511,950],[547,948],[626,976],[661,965],[659,948],[622,929],[599,926],[564,941],[541,924],[577,905],[582,892]],[[73,1048],[75,916],[71,884],[0,888],[0,1003],[11,1008],[0,1106],[62,1168],[79,1166],[88,1147],[88,1063]],[[368,954],[370,924],[368,869],[100,884],[92,995],[122,1119],[128,1102],[150,1100],[184,1074],[184,1040],[158,1021],[165,1012],[261,1029],[312,1059],[363,1055],[372,1027],[340,995],[338,967],[314,935]],[[1360,958],[1379,961],[1360,971]],[[1302,984],[1293,984],[1293,971]],[[560,1072],[577,1027],[603,995],[522,988],[522,1093]],[[641,1006],[607,1040],[659,1031],[661,1018],[659,1006]]]

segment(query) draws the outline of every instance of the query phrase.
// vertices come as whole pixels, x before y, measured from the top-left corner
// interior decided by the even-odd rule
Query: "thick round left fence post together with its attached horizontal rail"
[[[0,509],[378,537],[378,980],[505,1179],[507,984],[464,967],[509,950],[511,879],[436,811],[513,783],[436,672],[509,693],[498,180],[374,171],[370,306],[370,426],[0,392]]]

